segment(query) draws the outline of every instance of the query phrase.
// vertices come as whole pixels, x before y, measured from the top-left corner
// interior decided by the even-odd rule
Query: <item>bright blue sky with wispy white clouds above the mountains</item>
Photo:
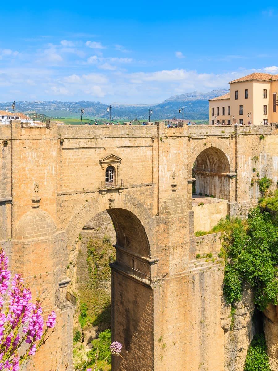
[[[274,6],[273,6],[274,5]],[[1,4],[0,101],[158,103],[278,73],[275,2]]]

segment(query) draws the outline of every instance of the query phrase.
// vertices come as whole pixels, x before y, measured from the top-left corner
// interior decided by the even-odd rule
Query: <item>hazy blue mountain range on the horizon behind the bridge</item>
[[[215,89],[207,93],[191,92],[181,95],[173,95],[162,103],[156,104],[111,104],[111,117],[117,119],[147,119],[149,118],[149,109],[152,109],[152,120],[166,118],[181,118],[179,108],[184,107],[185,119],[208,119],[208,99],[226,94],[227,89]],[[0,103],[0,109],[8,108],[11,110],[12,102]],[[50,117],[80,117],[80,107],[85,110],[85,117],[90,118],[109,118],[107,105],[101,102],[61,102],[61,101],[34,101],[34,102],[16,102],[18,112],[36,112]]]

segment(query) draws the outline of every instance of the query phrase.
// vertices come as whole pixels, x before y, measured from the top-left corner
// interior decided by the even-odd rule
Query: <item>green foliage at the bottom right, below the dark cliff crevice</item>
[[[248,348],[244,371],[271,371],[263,333],[254,336]]]

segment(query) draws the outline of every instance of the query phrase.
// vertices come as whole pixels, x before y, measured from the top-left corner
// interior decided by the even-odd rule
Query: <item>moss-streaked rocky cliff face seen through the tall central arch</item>
[[[75,331],[82,334],[83,347],[87,349],[96,333],[110,327],[111,282],[108,262],[109,256],[115,252],[114,243],[116,235],[112,221],[108,213],[103,211],[80,231],[68,266],[71,289],[77,294],[79,306],[80,303],[86,303],[88,307],[88,323],[81,327],[79,310],[73,322]]]

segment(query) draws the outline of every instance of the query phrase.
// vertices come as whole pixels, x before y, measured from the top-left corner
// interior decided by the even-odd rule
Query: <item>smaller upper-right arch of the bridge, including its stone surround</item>
[[[207,138],[193,147],[188,167],[190,178],[192,170],[196,194],[231,200],[234,194],[234,159],[232,149],[223,141]]]

